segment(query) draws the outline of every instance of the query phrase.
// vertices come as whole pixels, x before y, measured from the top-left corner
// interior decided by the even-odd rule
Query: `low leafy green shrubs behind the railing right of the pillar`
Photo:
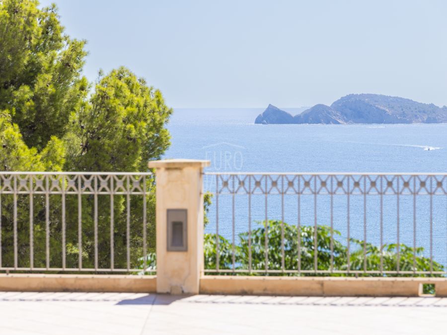
[[[282,269],[282,246],[284,245],[284,268],[286,270],[298,269],[298,241],[299,258],[301,270],[315,269],[315,229],[314,226],[298,227],[278,220],[269,220],[266,228],[265,221],[259,222],[258,227],[253,229],[250,234],[244,232],[238,235],[239,240],[232,244],[223,236],[219,236],[219,267],[221,269],[232,269],[232,255],[234,253],[234,268],[248,269],[249,250],[251,251],[253,270],[264,270],[266,268],[266,249],[265,236],[268,232],[267,240],[267,266],[271,270]],[[282,238],[284,234],[284,240]],[[413,249],[400,244],[399,253],[397,253],[396,244],[385,244],[381,249],[366,243],[366,253],[364,256],[364,242],[351,239],[351,250],[349,254],[348,267],[348,249],[338,241],[337,236],[340,232],[332,231],[331,228],[324,225],[318,225],[316,230],[317,237],[317,267],[318,270],[351,270],[363,271],[366,262],[367,270],[379,271],[382,266],[384,271],[396,271],[397,264],[401,271],[430,271],[430,259],[423,256],[424,249],[419,247]],[[283,242],[282,242],[283,241]],[[332,247],[331,247],[332,241]],[[216,269],[217,248],[216,234],[205,234],[205,268]],[[333,251],[333,252],[332,252]],[[331,254],[333,255],[331,257]],[[433,262],[434,271],[443,271],[443,266]],[[248,272],[248,271],[247,271]],[[310,273],[311,274],[311,273]],[[333,274],[337,275],[337,274]],[[382,274],[368,274],[381,276]],[[401,274],[405,275],[405,274]],[[408,275],[408,274],[407,274]],[[413,274],[411,274],[413,275]]]

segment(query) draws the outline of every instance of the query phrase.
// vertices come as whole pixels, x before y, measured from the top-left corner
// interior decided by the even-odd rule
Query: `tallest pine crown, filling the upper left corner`
[[[8,110],[24,142],[42,150],[61,138],[72,111],[86,97],[80,72],[85,41],[64,34],[55,5],[0,2],[0,110]]]

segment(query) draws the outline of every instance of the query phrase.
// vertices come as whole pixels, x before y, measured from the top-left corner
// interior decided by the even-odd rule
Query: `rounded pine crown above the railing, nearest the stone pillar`
[[[169,146],[171,110],[159,90],[125,67],[96,85],[89,103],[72,113],[68,165],[81,171],[145,171]]]

